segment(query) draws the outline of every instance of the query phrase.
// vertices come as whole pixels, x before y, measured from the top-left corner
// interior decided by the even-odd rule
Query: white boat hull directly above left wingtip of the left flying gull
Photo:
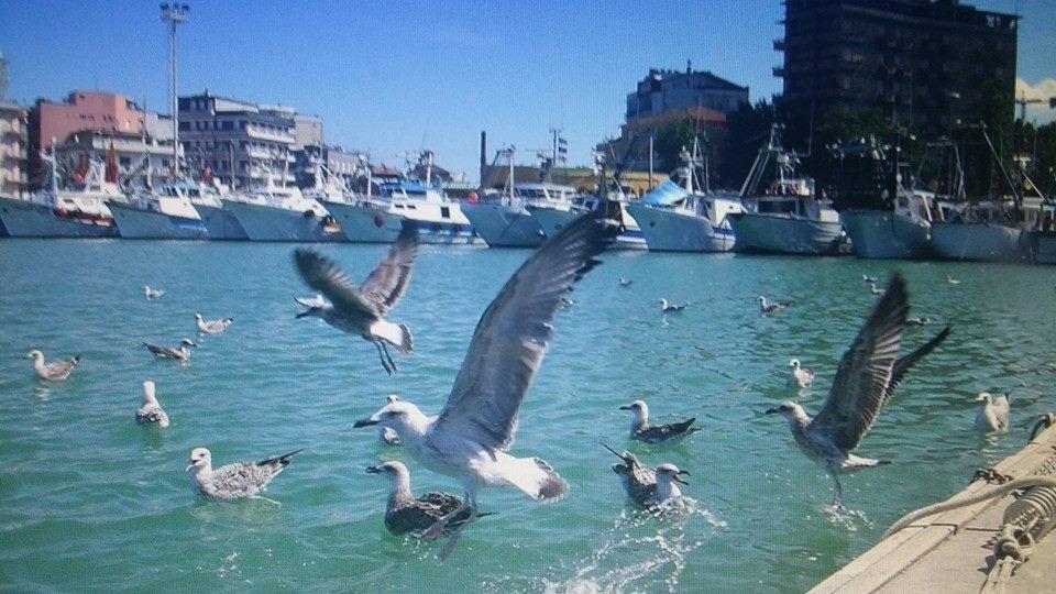
[[[250,241],[348,241],[338,224],[319,212],[299,212],[287,208],[223,200]]]

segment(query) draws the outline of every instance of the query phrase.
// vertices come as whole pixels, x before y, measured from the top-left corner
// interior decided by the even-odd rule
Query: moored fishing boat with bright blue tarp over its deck
[[[728,216],[744,211],[740,198],[712,193],[707,186],[706,162],[700,144],[693,152],[682,150],[683,166],[647,193],[627,204],[654,252],[728,252],[734,248],[734,230]],[[703,170],[703,175],[701,172]]]

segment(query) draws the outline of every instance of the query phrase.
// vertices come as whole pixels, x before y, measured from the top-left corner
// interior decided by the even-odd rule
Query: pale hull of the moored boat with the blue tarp
[[[651,252],[728,252],[734,231],[712,221],[669,208],[630,202],[627,211],[638,221]]]

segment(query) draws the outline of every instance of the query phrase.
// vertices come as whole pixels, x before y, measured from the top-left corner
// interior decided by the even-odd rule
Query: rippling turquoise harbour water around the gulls
[[[383,246],[322,249],[362,277]],[[389,536],[387,485],[363,469],[402,459],[416,492],[458,490],[352,422],[387,394],[439,410],[477,317],[528,252],[422,250],[391,319],[416,350],[384,374],[373,346],[318,320],[294,320],[307,295],[289,245],[0,241],[0,586],[16,590],[802,591],[866,550],[903,513],[961,488],[1025,442],[1031,415],[1056,408],[1056,268],[854,258],[609,254],[573,293],[521,410],[513,453],[548,460],[571,483],[542,506],[482,493],[498,512],[446,561],[437,543]],[[860,275],[900,270],[912,315],[955,323],[913,370],[860,452],[891,466],[831,483],[763,409],[821,406],[843,350],[875,297]],[[948,285],[945,275],[960,278]],[[635,280],[620,288],[619,276]],[[141,286],[168,293],[146,301]],[[760,317],[754,297],[788,299]],[[656,300],[691,300],[664,318]],[[187,364],[140,341],[194,337],[194,314],[233,317]],[[938,324],[908,331],[915,345]],[[31,348],[82,353],[64,383],[38,383]],[[795,356],[817,386],[784,387]],[[167,430],[135,425],[144,380]],[[1013,429],[971,430],[975,395],[1012,389]],[[702,431],[648,450],[626,439],[618,406],[690,414]],[[692,472],[696,504],[678,517],[629,509],[600,441]],[[191,448],[217,464],[306,448],[267,501],[204,502],[184,468]]]

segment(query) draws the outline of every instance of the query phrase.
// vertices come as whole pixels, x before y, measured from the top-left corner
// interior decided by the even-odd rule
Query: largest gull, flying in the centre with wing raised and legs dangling
[[[514,486],[542,503],[560,499],[569,484],[539,458],[507,453],[517,430],[520,404],[553,334],[561,297],[598,262],[594,256],[615,239],[619,226],[585,213],[544,242],[506,282],[484,311],[443,410],[426,415],[411,403],[386,404],[355,427],[387,425],[427,468],[462,482],[461,506],[422,535],[440,536],[459,514],[466,522],[440,552],[447,557],[459,535],[477,516],[476,495],[485,486]]]

